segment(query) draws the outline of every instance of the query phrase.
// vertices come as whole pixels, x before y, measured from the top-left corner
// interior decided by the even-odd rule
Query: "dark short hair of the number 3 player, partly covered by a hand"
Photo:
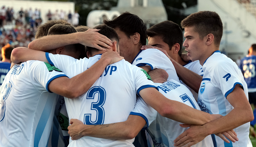
[[[110,28],[107,25],[98,25],[98,26],[94,27],[94,29],[100,29],[98,31],[98,33],[106,36],[111,41],[117,41],[117,46],[119,45],[118,35],[117,35],[117,33],[115,32],[115,30],[113,28]],[[96,49],[96,48],[87,46],[86,51],[89,51],[90,53],[92,53],[92,52],[99,51],[99,50]]]

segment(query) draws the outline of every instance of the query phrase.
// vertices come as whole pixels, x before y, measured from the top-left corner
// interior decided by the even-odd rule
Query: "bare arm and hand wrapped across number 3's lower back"
[[[117,122],[106,125],[84,125],[78,119],[70,119],[68,133],[72,140],[83,136],[91,136],[106,139],[133,139],[146,124],[144,118],[138,115],[129,115],[125,122]]]

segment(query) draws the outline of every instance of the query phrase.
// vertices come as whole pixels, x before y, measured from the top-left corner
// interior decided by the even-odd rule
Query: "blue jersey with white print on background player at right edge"
[[[246,55],[240,62],[240,69],[244,74],[244,80],[248,87],[248,92],[256,92],[256,56]]]

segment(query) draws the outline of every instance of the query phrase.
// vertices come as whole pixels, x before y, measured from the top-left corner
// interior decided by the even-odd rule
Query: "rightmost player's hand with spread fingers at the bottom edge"
[[[194,144],[199,143],[207,136],[207,129],[201,125],[191,125],[191,127],[179,135],[174,140],[174,146],[177,147],[190,147]],[[186,145],[186,146],[185,146]]]

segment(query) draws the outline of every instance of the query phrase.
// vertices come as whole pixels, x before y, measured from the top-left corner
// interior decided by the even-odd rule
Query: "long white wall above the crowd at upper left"
[[[29,10],[29,8],[32,8],[32,11],[34,12],[35,9],[41,9],[41,19],[43,20],[43,23],[48,20],[46,17],[46,14],[49,10],[51,10],[51,13],[54,13],[56,9],[58,9],[58,12],[62,9],[63,11],[68,14],[69,10],[71,11],[71,14],[74,14],[75,12],[75,3],[74,2],[61,2],[61,1],[26,1],[26,0],[0,0],[0,7],[2,6],[7,7],[13,7],[15,11],[15,18],[17,16],[17,13],[20,11],[20,8],[23,8],[23,11]]]

